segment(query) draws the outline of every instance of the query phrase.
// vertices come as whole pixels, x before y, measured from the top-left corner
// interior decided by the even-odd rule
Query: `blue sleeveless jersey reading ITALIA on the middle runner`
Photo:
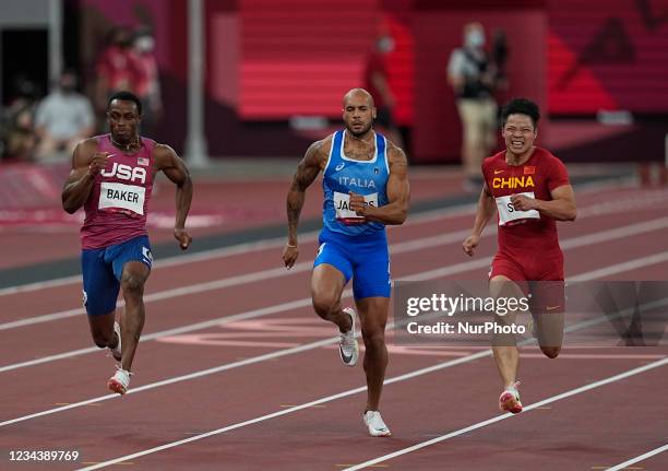
[[[385,225],[375,221],[365,222],[350,211],[350,191],[365,197],[374,207],[387,204],[386,140],[375,137],[375,154],[370,161],[357,161],[344,155],[345,131],[336,131],[332,139],[330,158],[324,169],[322,189],[324,192],[323,224],[335,233],[349,236],[369,235],[384,231]]]

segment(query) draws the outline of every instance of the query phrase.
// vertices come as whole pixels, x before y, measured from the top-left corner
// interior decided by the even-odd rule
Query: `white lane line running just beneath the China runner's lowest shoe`
[[[619,375],[615,375],[615,376],[611,376],[611,377],[606,378],[606,379],[600,379],[598,381],[595,381],[595,382],[592,382],[592,384],[588,384],[588,385],[585,385],[585,386],[581,386],[580,388],[571,389],[570,391],[565,391],[565,392],[562,392],[560,395],[552,396],[550,398],[544,399],[542,401],[538,401],[538,402],[535,402],[535,403],[533,403],[530,405],[527,405],[526,408],[524,408],[524,411],[522,413],[524,414],[524,413],[526,413],[526,412],[528,412],[528,411],[530,411],[533,409],[538,409],[540,407],[544,407],[544,405],[547,405],[547,404],[551,404],[552,402],[557,402],[557,401],[562,400],[562,399],[566,399],[566,398],[570,398],[572,396],[580,395],[582,392],[591,391],[592,389],[600,388],[601,386],[606,386],[606,385],[609,385],[609,384],[612,384],[612,382],[616,382],[616,381],[620,381],[622,379],[627,379],[627,378],[630,378],[631,376],[640,375],[641,373],[645,373],[645,372],[648,372],[648,370],[654,369],[654,368],[659,368],[659,367],[661,367],[664,365],[668,365],[668,358],[659,360],[659,361],[649,363],[647,365],[644,365],[644,366],[641,366],[641,367],[637,367],[637,368],[633,368],[633,369],[630,369],[630,370],[624,372],[624,373],[620,373]],[[457,436],[466,434],[468,432],[473,432],[473,431],[476,431],[478,428],[482,428],[482,427],[486,427],[488,425],[494,424],[497,422],[504,421],[504,420],[510,419],[512,416],[514,416],[514,415],[511,414],[511,413],[506,413],[506,414],[503,414],[503,415],[497,415],[496,417],[488,419],[487,421],[478,422],[477,424],[470,425],[468,427],[460,428],[458,431],[454,431],[454,432],[451,432],[449,434],[441,435],[440,437],[437,437],[437,438],[433,438],[433,439],[430,439],[430,440],[427,440],[427,441],[422,441],[422,443],[419,443],[417,445],[413,445],[410,447],[406,447],[406,448],[403,448],[401,450],[397,450],[397,451],[394,451],[394,452],[391,452],[391,454],[387,454],[387,455],[383,455],[382,457],[378,457],[378,458],[374,458],[372,460],[365,461],[362,463],[356,464],[356,466],[350,467],[350,468],[346,468],[343,471],[357,471],[357,470],[360,470],[360,469],[363,469],[363,468],[368,468],[368,467],[370,467],[372,464],[377,464],[377,463],[380,463],[380,462],[383,462],[383,461],[387,461],[387,460],[391,460],[393,458],[399,457],[402,455],[406,455],[406,454],[409,454],[409,452],[413,452],[413,451],[416,451],[416,450],[429,447],[431,445],[436,445],[438,443],[448,440],[450,438],[457,437]],[[142,456],[142,455],[134,454],[133,458],[134,457],[139,457],[139,456]],[[130,458],[129,457],[121,457],[121,458],[117,458],[117,459],[124,461],[124,460],[130,459]],[[112,463],[112,462],[116,462],[116,460],[107,461],[108,464]],[[86,469],[97,469],[97,468],[86,468]],[[617,469],[621,469],[621,468],[617,468]]]

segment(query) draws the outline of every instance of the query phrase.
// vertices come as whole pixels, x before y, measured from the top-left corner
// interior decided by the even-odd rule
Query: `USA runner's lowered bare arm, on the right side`
[[[188,217],[192,201],[190,172],[188,172],[183,161],[169,145],[156,144],[153,150],[153,156],[156,169],[163,170],[167,178],[177,186],[177,214],[174,223],[174,237],[179,242],[181,249],[186,250],[192,242],[192,237],[186,231],[186,217]]]

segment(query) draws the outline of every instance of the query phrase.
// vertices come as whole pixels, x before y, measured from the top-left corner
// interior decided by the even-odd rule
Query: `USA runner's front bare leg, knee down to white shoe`
[[[141,261],[130,261],[123,267],[121,289],[126,311],[121,318],[121,368],[130,372],[136,344],[144,328],[144,284],[151,270]]]

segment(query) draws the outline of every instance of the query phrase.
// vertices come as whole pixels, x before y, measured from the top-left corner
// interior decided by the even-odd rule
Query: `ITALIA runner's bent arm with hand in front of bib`
[[[375,208],[365,203],[361,195],[350,193],[350,209],[368,221],[378,221],[386,225],[403,224],[408,215],[410,185],[408,184],[408,160],[399,148],[387,149],[390,176],[387,177],[387,204]]]

